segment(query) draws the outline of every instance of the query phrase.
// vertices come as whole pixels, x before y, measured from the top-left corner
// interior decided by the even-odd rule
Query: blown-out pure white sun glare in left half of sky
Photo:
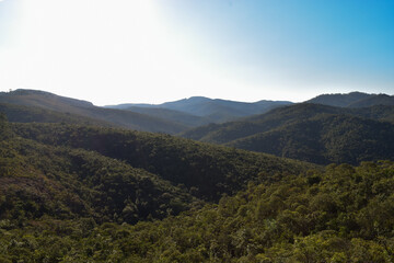
[[[167,87],[185,94],[201,88],[201,70],[160,21],[153,1],[24,1],[21,18],[18,49],[8,57],[10,65],[23,65],[23,78],[15,87],[16,77],[9,76],[12,89],[47,89],[105,103],[150,101],[138,92],[147,89],[165,100]],[[130,98],[111,98],[108,91]]]

